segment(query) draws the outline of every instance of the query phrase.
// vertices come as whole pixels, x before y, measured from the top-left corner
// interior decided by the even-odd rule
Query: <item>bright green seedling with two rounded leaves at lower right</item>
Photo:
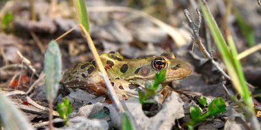
[[[205,100],[205,99],[203,99]],[[205,100],[206,101],[206,100]],[[190,117],[186,125],[188,125],[188,129],[193,129],[194,125],[198,122],[203,122],[210,116],[216,116],[218,114],[222,114],[226,110],[225,101],[222,98],[214,99],[208,106],[208,112],[202,114],[201,109],[198,106],[190,107]]]

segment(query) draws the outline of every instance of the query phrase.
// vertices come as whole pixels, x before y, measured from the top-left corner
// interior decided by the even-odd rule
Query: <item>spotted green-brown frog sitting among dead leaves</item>
[[[183,79],[192,73],[191,66],[175,57],[170,51],[161,55],[148,55],[133,59],[124,58],[118,52],[102,53],[102,64],[116,92],[123,100],[130,96],[138,97],[139,90],[145,90],[145,83],[155,79],[155,74],[166,69],[166,79],[162,85],[167,86],[171,81]],[[80,62],[65,71],[63,83],[66,88],[81,88],[92,94],[107,95],[108,90],[101,77],[95,60]]]

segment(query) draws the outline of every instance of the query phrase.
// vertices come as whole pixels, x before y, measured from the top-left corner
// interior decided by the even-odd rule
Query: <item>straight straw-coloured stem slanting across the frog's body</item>
[[[109,90],[110,92],[110,97],[111,97],[111,100],[113,101],[113,104],[115,105],[115,107],[117,108],[117,110],[119,112],[124,112],[124,108],[122,107],[122,104],[120,103],[119,99],[117,98],[117,95],[115,93],[115,90],[113,89],[113,86],[111,85],[111,81],[109,80],[109,77],[106,73],[106,70],[104,69],[104,66],[102,64],[102,60],[100,60],[100,56],[98,55],[98,52],[93,44],[93,41],[91,40],[91,36],[90,34],[87,32],[86,29],[84,29],[83,25],[79,25],[80,26],[80,29],[82,30],[83,34],[85,36],[87,36],[87,41],[88,41],[88,45],[89,45],[89,49],[91,50],[91,52],[93,53],[93,56],[95,58],[95,62],[96,64],[98,65],[99,67],[99,70],[100,70],[100,73],[101,73],[101,76],[104,80],[104,83],[107,87],[107,89]]]

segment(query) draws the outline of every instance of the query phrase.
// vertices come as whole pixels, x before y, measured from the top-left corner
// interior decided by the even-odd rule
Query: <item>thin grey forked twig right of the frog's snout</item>
[[[196,9],[196,13],[198,14],[198,24],[195,24],[192,21],[192,18],[190,16],[190,12],[188,12],[187,9],[184,10],[185,12],[185,16],[188,18],[188,22],[190,24],[190,27],[192,27],[193,30],[193,36],[192,39],[194,40],[194,42],[196,44],[198,44],[199,49],[201,50],[201,53],[207,57],[212,64],[218,69],[218,71],[227,79],[231,80],[231,78],[229,77],[229,75],[227,75],[227,73],[225,73],[225,71],[218,66],[218,63],[212,58],[212,56],[207,52],[207,50],[205,49],[205,47],[203,46],[203,43],[201,41],[201,38],[198,35],[198,31],[199,31],[199,27],[201,27],[201,13],[198,11],[198,9]]]

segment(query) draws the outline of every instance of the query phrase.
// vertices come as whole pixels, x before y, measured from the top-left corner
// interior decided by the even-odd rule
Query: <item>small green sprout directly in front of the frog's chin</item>
[[[159,92],[162,89],[161,83],[165,81],[166,70],[161,70],[155,76],[155,81],[148,81],[145,83],[146,92],[139,91],[139,102],[141,104],[148,99],[148,97]]]

